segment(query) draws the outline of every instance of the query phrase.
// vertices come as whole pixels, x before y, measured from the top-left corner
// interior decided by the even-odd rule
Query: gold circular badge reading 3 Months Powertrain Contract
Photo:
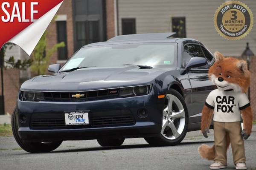
[[[239,40],[252,29],[253,13],[240,1],[227,1],[216,10],[214,25],[222,37]]]

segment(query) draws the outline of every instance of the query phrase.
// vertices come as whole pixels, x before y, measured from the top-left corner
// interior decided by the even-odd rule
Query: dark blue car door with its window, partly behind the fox
[[[207,57],[206,57],[207,56]],[[191,68],[188,71],[189,81],[192,90],[191,104],[188,105],[190,114],[189,123],[201,122],[201,111],[204,106],[205,100],[213,89],[215,85],[208,78],[209,67],[214,62],[213,56],[209,51],[200,44],[190,43],[183,47],[183,66],[192,57],[205,57],[207,59],[207,64],[201,67]]]

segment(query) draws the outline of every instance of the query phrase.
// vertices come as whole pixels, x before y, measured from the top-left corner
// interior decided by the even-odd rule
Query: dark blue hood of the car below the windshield
[[[172,70],[169,68],[168,71]],[[141,69],[138,66],[93,67],[53,75],[41,75],[24,82],[21,89],[27,90],[90,90],[139,85],[152,82],[163,68]]]

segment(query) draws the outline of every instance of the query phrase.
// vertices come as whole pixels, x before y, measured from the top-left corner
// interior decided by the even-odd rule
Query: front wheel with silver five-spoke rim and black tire
[[[172,98],[172,112],[169,113],[167,104]],[[169,104],[169,107],[170,105],[171,104]],[[153,146],[172,146],[179,144],[186,136],[186,131],[189,124],[188,110],[185,100],[179,92],[175,91],[174,89],[170,89],[166,94],[166,101],[163,108],[163,124],[160,136],[144,139],[146,142],[148,142],[148,144]]]

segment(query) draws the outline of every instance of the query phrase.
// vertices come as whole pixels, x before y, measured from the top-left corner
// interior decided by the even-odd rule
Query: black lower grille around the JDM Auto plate
[[[32,129],[72,129],[104,126],[134,125],[129,110],[101,111],[89,113],[89,125],[65,125],[64,113],[34,113],[31,116]]]

